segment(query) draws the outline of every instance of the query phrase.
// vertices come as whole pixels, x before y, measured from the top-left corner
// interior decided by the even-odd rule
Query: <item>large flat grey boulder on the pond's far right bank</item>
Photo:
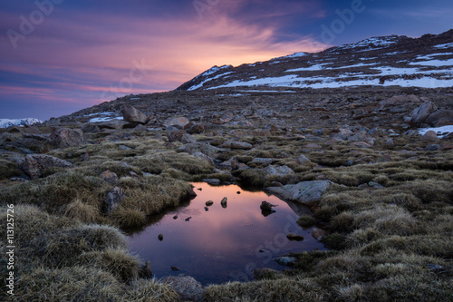
[[[321,196],[331,185],[332,182],[328,180],[313,180],[299,182],[295,185],[271,187],[267,188],[267,191],[284,200],[296,201],[305,206],[313,206],[321,200]]]

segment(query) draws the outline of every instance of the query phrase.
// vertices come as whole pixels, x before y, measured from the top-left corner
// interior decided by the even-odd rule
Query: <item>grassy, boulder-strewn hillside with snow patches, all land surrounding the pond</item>
[[[11,244],[14,205],[22,259],[14,300],[451,300],[452,34],[214,68],[184,91],[0,129],[0,250]],[[375,84],[347,85],[358,78]],[[208,89],[246,81],[262,84]],[[405,81],[437,84],[388,86]],[[159,258],[132,255],[120,229],[145,228],[181,205],[194,181],[294,202],[298,225],[329,250],[282,255],[291,269],[255,270],[252,282],[152,278]]]

